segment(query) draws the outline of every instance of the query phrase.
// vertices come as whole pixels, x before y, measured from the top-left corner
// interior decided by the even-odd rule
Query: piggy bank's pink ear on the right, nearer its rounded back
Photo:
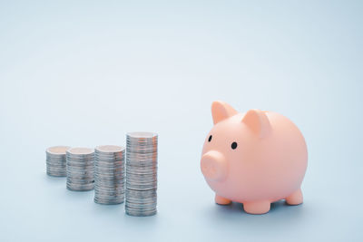
[[[242,122],[244,122],[251,131],[259,135],[260,138],[265,137],[270,131],[270,121],[264,111],[247,111],[242,118]]]

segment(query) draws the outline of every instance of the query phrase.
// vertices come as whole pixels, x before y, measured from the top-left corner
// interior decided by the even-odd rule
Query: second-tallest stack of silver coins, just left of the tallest
[[[103,145],[95,148],[94,202],[119,204],[124,199],[123,147]]]

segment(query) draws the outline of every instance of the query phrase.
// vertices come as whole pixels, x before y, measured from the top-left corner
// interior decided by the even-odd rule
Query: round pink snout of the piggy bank
[[[201,172],[204,177],[211,180],[223,180],[227,177],[227,161],[223,154],[211,150],[201,157]]]

